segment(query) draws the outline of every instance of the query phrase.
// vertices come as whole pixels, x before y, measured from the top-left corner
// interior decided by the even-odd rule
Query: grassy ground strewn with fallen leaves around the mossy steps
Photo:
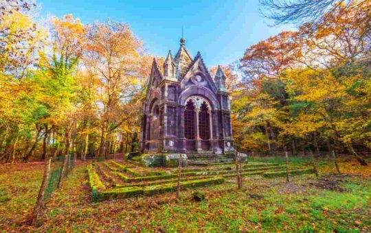
[[[253,158],[280,162],[282,158]],[[291,158],[291,164],[303,164]],[[371,165],[340,162],[335,175],[328,160],[319,160],[320,177],[300,175],[244,178],[197,188],[206,199],[194,201],[195,189],[152,197],[93,203],[86,165],[79,163],[63,187],[47,202],[38,225],[25,224],[41,184],[43,163],[1,165],[0,232],[371,232]]]

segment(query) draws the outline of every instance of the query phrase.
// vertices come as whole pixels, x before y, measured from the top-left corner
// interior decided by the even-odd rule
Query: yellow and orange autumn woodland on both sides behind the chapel
[[[223,66],[234,145],[293,155],[371,149],[371,1],[262,0],[295,23]],[[33,1],[0,1],[0,160],[135,151],[153,56],[126,23],[36,23]],[[164,58],[155,58],[161,60]],[[210,70],[216,71],[215,67]]]

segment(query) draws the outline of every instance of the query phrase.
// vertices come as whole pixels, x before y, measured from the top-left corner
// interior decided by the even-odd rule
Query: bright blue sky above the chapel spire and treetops
[[[146,49],[166,56],[179,49],[181,27],[192,56],[197,51],[207,66],[229,64],[243,56],[247,47],[290,27],[269,27],[259,14],[258,0],[38,0],[41,16],[73,14],[82,23],[119,21],[129,23]]]

